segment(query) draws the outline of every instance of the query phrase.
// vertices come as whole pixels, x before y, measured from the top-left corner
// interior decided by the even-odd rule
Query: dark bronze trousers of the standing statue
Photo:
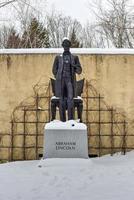
[[[67,96],[65,96],[65,95],[67,95]],[[66,121],[66,107],[67,107],[67,111],[68,111],[68,120],[74,119],[73,85],[72,85],[72,81],[71,81],[70,77],[69,78],[64,77],[62,79],[61,97],[60,97],[59,107],[60,107],[60,120],[61,121]]]

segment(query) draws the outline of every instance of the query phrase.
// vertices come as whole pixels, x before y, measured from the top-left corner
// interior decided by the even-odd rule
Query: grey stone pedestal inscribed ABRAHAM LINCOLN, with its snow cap
[[[87,127],[70,120],[45,126],[44,158],[88,158]]]

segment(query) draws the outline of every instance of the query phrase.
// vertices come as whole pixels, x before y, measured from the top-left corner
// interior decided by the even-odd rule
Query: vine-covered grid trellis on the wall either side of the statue
[[[94,87],[85,82],[83,93],[83,123],[88,127],[88,144],[90,156],[125,154],[134,149],[128,134],[128,122],[122,113],[107,106]],[[39,159],[43,153],[44,126],[50,121],[50,83],[39,87],[33,96],[33,103],[18,106],[11,120],[10,160]],[[131,140],[129,144],[129,139]],[[0,146],[0,148],[5,148]]]

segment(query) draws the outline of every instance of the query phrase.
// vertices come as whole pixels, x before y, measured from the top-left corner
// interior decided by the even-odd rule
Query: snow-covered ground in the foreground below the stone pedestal
[[[1,164],[0,200],[134,200],[134,152]]]

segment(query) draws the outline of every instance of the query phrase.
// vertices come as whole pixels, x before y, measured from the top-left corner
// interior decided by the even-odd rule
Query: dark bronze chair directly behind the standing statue
[[[52,85],[52,93],[53,97],[51,98],[51,120],[56,118],[56,107],[59,107],[59,97],[55,96],[55,79],[51,78],[51,85]],[[82,122],[82,111],[83,111],[83,100],[81,95],[83,93],[84,87],[84,79],[76,81],[76,96],[74,98],[74,108],[77,108],[77,115],[80,122]]]

